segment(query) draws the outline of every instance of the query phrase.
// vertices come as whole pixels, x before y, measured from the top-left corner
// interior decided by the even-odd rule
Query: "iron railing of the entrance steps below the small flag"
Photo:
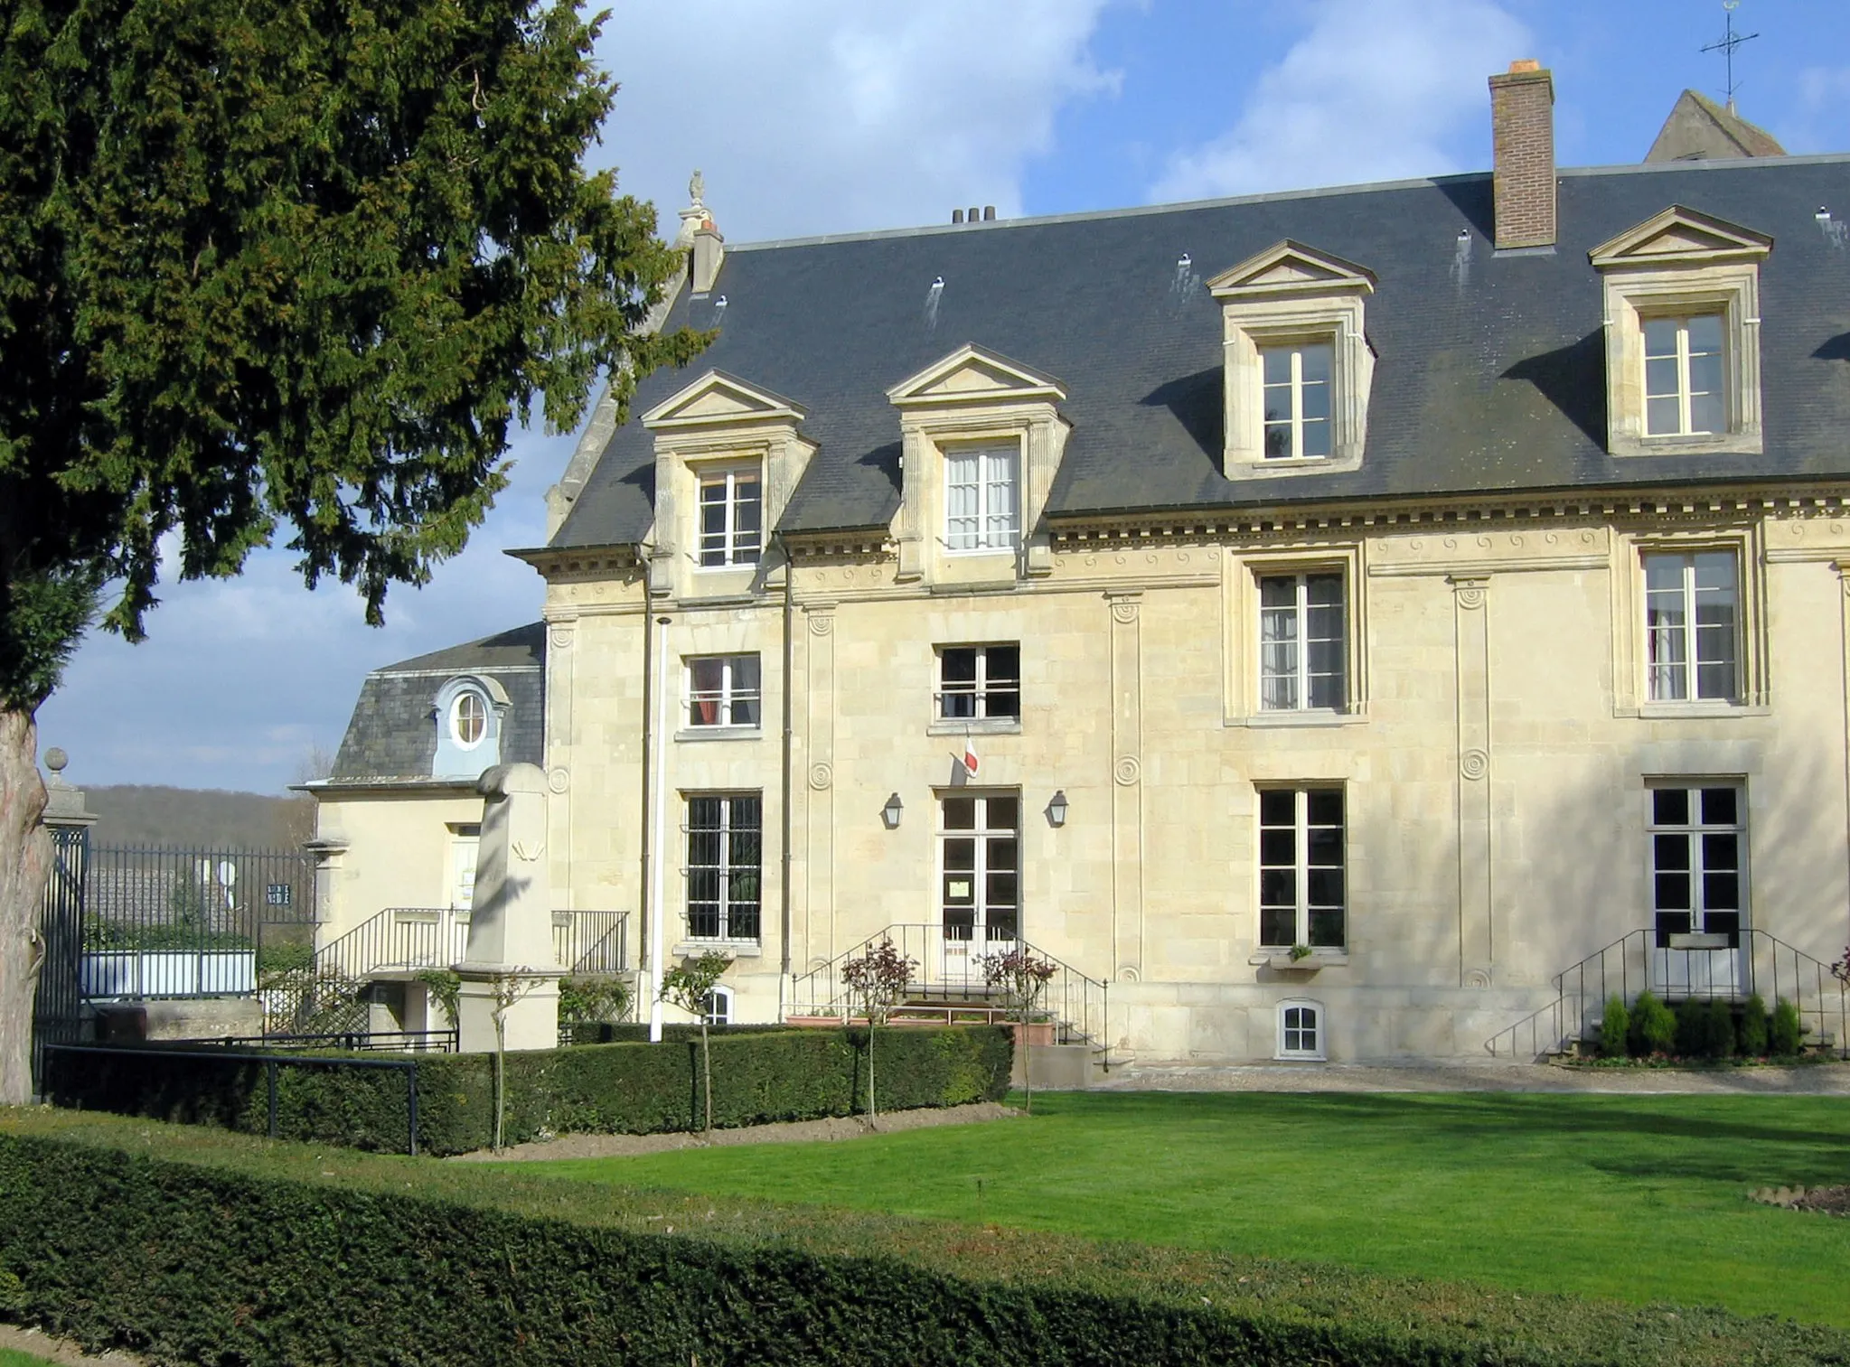
[[[790,986],[784,1019],[836,1017],[847,1021],[853,1004],[847,986],[842,982],[842,966],[849,958],[858,958],[881,940],[892,940],[894,947],[918,966],[905,1003],[894,1012],[895,1017],[942,1019],[947,1025],[1018,1017],[1006,990],[992,986],[984,979],[982,960],[988,954],[1005,954],[1012,949],[1021,949],[1036,958],[1045,958],[1054,966],[1054,975],[1047,980],[1034,1006],[1032,1019],[1054,1027],[1054,1043],[1092,1045],[1101,1054],[1101,1060],[1106,1062],[1106,1067],[1110,1065],[1106,1056],[1110,984],[1088,979],[1071,964],[1054,958],[1025,940],[984,945],[971,940],[945,938],[940,925],[890,925],[879,934],[868,936],[845,954],[838,954],[821,967],[797,977]]]

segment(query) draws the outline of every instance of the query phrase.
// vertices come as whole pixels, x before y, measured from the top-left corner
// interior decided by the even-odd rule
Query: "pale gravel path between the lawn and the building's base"
[[[1585,1091],[1850,1097],[1850,1064],[1565,1067],[1554,1064],[1191,1064],[1114,1067],[1095,1091]]]

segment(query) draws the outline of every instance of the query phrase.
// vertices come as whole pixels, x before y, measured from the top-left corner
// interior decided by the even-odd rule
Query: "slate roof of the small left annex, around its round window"
[[[361,684],[327,786],[433,781],[437,692],[461,675],[494,679],[507,692],[501,764],[540,764],[546,718],[546,623],[535,622],[464,646],[387,664]]]

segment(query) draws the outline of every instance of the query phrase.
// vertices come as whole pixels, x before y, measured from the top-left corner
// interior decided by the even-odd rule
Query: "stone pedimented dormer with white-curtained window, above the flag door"
[[[1051,573],[1040,518],[1069,431],[1060,381],[966,342],[886,398],[905,440],[899,581]]]

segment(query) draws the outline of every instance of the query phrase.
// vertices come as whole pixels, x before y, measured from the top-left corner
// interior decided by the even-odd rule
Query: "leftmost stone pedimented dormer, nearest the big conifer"
[[[655,435],[649,592],[731,597],[764,586],[764,553],[814,442],[803,409],[709,370],[642,414]]]

